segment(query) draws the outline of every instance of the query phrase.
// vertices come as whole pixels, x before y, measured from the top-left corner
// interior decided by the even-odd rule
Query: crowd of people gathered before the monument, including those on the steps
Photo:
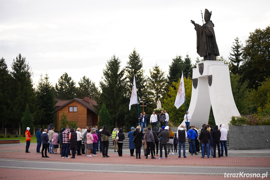
[[[186,125],[189,125],[191,116],[185,115]],[[160,117],[161,116],[161,117]],[[166,117],[167,116],[167,117]],[[164,125],[158,129],[157,118],[155,112],[150,118],[151,127],[146,128],[147,115],[141,113],[141,125],[136,128],[131,127],[131,131],[128,133],[130,156],[136,156],[136,159],[141,159],[141,147],[143,147],[143,154],[146,159],[151,156],[151,159],[156,159],[155,156],[159,156],[158,159],[163,158],[163,148],[165,152],[165,158],[168,159],[168,154],[177,154],[181,158],[181,150],[183,151],[183,157],[186,158],[186,139],[189,143],[190,155],[198,155],[197,152],[201,150],[201,158],[205,155],[207,158],[216,157],[216,147],[218,149],[218,157],[223,157],[223,148],[225,150],[225,156],[227,154],[227,129],[225,125],[214,126],[203,124],[201,133],[199,135],[196,126],[187,126],[188,130],[184,129],[181,125],[180,129],[174,133],[171,127],[166,126],[168,123],[168,115],[163,111],[159,115],[161,125]],[[167,121],[166,121],[167,120]],[[145,128],[143,128],[145,126]],[[48,129],[44,129],[41,133],[41,128],[38,128],[36,132],[37,137],[37,152],[42,154],[42,157],[49,157],[47,154],[59,154],[63,158],[75,158],[75,155],[81,156],[85,154],[86,157],[97,156],[97,152],[102,152],[102,157],[108,156],[109,137],[112,136],[114,144],[114,152],[118,152],[118,155],[123,156],[123,142],[125,134],[122,128],[114,128],[112,133],[107,129],[107,126],[101,126],[99,130],[97,126],[85,129],[77,128],[62,128],[60,131],[54,130],[52,124],[48,126]],[[31,134],[30,128],[27,127],[25,131],[26,136],[26,152],[29,153],[28,148],[30,146]],[[152,131],[151,131],[152,130]],[[199,136],[198,136],[199,135]],[[200,140],[200,142],[198,141]],[[42,151],[40,152],[42,144]],[[59,153],[57,152],[59,148]],[[47,153],[48,151],[48,153]],[[134,155],[135,151],[135,155]],[[160,155],[158,155],[158,153]],[[92,155],[91,155],[92,154]]]

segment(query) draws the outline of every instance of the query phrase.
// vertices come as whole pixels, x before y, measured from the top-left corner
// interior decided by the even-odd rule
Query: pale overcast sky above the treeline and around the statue
[[[220,55],[232,42],[270,25],[270,1],[38,1],[0,0],[0,58],[11,70],[19,53],[29,62],[33,82],[46,72],[53,85],[64,72],[76,82],[85,75],[99,85],[105,63],[115,54],[122,67],[134,48],[145,74],[157,63],[168,74],[172,59],[196,57],[201,11],[212,11]]]

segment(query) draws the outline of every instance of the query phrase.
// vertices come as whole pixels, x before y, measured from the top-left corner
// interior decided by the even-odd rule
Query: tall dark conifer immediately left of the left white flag
[[[125,123],[124,109],[127,98],[124,96],[126,91],[124,69],[120,69],[121,61],[115,55],[107,61],[103,69],[102,81],[99,82],[101,94],[97,100],[99,108],[105,103],[110,116],[110,124],[118,126],[118,122]]]

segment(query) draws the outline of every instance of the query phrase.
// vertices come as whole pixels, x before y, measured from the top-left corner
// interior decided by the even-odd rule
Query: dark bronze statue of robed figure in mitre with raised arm
[[[201,26],[195,24],[193,20],[190,20],[195,26],[197,33],[197,53],[203,60],[216,60],[216,56],[219,56],[219,51],[216,42],[216,36],[214,32],[214,24],[210,21],[212,11],[209,12],[205,9],[204,21],[205,23]],[[203,22],[203,20],[202,20]]]

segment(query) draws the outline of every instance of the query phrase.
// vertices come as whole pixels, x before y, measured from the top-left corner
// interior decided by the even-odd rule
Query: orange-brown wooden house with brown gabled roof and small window
[[[98,115],[93,105],[97,105],[96,101],[89,96],[84,96],[83,99],[59,100],[55,105],[57,127],[59,127],[59,121],[63,112],[69,122],[76,121],[78,127],[81,129],[86,126],[93,127],[97,125]]]

